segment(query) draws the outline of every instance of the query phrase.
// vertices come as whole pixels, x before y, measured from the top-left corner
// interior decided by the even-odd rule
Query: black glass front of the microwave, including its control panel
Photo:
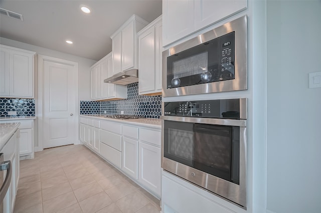
[[[234,79],[235,32],[167,57],[167,88]]]

